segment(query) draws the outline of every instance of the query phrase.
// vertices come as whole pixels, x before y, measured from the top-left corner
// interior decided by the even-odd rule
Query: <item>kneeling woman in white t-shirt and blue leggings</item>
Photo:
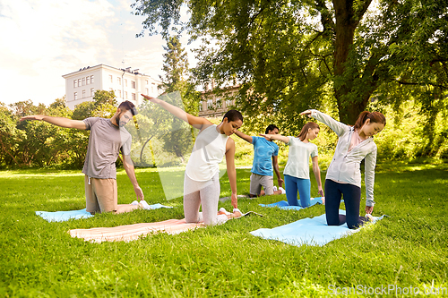
[[[310,142],[319,133],[320,128],[314,122],[302,127],[297,137],[285,137],[280,134],[261,134],[268,140],[281,140],[289,145],[288,162],[283,171],[285,176],[286,198],[289,206],[310,206],[311,182],[309,179],[309,158],[313,162],[313,172],[317,181],[318,192],[323,196],[321,171],[317,159],[317,146]],[[297,200],[300,196],[300,205]]]

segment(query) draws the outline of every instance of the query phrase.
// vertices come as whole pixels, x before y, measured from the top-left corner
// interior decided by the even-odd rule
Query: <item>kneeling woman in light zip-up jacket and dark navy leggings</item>
[[[347,222],[349,228],[362,226],[371,218],[374,210],[374,183],[376,145],[373,136],[381,132],[386,118],[379,112],[362,112],[355,126],[334,120],[317,110],[307,110],[308,115],[325,124],[339,137],[332,163],[325,177],[325,213],[329,226],[340,226]],[[366,217],[359,217],[361,201],[361,161],[366,168]],[[344,197],[346,216],[339,214],[340,199]]]

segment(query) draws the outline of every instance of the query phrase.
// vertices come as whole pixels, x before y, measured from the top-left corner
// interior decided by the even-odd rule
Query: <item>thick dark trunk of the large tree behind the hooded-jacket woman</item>
[[[366,109],[368,99],[373,89],[366,89],[361,98],[353,99],[353,81],[357,72],[348,76],[349,51],[353,46],[355,30],[358,27],[368,5],[372,0],[361,1],[362,5],[354,10],[353,0],[333,0],[335,12],[335,40],[334,40],[334,95],[338,102],[340,122],[355,124],[358,115]]]

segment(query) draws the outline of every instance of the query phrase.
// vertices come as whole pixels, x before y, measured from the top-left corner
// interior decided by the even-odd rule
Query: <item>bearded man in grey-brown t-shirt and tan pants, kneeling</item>
[[[117,204],[115,163],[120,150],[123,154],[123,166],[134,185],[134,192],[138,199],[144,199],[130,157],[131,134],[124,127],[135,114],[134,104],[126,100],[118,106],[116,114],[110,119],[94,117],[81,121],[64,117],[29,115],[22,117],[21,121],[39,120],[66,128],[90,130],[89,146],[82,168],[82,173],[85,174],[86,209],[92,214],[109,211],[123,213],[138,209],[140,205]]]

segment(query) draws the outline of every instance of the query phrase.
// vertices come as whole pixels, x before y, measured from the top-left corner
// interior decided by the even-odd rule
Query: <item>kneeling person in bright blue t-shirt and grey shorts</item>
[[[266,134],[278,134],[279,128],[274,124],[266,128]],[[279,146],[272,140],[264,137],[251,137],[243,132],[235,132],[235,134],[243,140],[254,145],[254,162],[252,164],[251,186],[249,196],[251,198],[259,195],[272,195],[285,193],[281,188],[283,186],[283,179],[280,176],[278,155]],[[271,160],[272,159],[272,160]],[[277,182],[279,183],[279,190],[274,189],[274,176],[272,168],[277,175]],[[262,186],[264,191],[262,191]]]

